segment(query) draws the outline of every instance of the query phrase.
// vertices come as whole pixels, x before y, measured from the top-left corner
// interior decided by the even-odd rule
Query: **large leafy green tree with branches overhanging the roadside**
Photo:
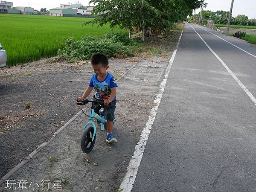
[[[92,14],[97,17],[84,25],[99,23],[99,26],[110,23],[111,27],[121,29],[136,27],[144,41],[145,31],[165,33],[192,13],[194,2],[198,0],[91,0],[96,4]]]

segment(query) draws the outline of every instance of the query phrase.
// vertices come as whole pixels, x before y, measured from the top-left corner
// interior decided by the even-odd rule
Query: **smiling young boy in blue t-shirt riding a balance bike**
[[[83,99],[86,99],[90,95],[91,91],[95,90],[95,95],[93,100],[104,101],[105,105],[105,119],[107,119],[107,136],[106,142],[116,143],[117,140],[114,137],[113,131],[113,120],[115,118],[115,109],[116,109],[116,81],[113,76],[107,72],[108,58],[106,55],[101,53],[96,53],[91,57],[91,65],[94,70],[94,75],[90,79],[89,86],[84,91],[83,96],[78,97],[77,100],[81,102]],[[99,114],[100,107],[95,105],[95,113]]]

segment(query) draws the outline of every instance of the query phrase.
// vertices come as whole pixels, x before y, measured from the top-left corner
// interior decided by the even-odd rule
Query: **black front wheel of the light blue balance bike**
[[[93,140],[93,133],[94,133],[94,128],[88,127],[84,130],[82,134],[81,149],[82,151],[84,151],[84,153],[89,153],[93,149],[93,146],[96,140],[96,135],[94,136],[94,140]]]

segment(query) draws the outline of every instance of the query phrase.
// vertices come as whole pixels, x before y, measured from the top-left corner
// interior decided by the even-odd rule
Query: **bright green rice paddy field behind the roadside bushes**
[[[27,63],[56,55],[65,40],[99,35],[112,29],[105,25],[82,26],[91,18],[51,17],[46,15],[0,14],[0,43],[7,52],[7,65]],[[119,30],[119,29],[114,29]]]

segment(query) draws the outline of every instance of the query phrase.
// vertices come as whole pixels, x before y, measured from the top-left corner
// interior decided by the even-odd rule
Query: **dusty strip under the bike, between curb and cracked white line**
[[[158,80],[161,79],[159,77],[166,61],[168,59],[162,57],[151,58],[151,61],[144,59],[118,81],[117,122],[114,129],[118,143],[106,143],[105,131],[98,129],[93,151],[83,153],[80,138],[83,125],[88,119],[81,114],[12,175],[12,179],[29,182],[35,180],[38,184],[42,179],[50,180],[51,183],[61,179],[64,182],[63,191],[67,192],[106,192],[118,189],[154,105],[160,82]],[[79,106],[74,107],[79,111]],[[37,191],[46,190],[38,188]]]

